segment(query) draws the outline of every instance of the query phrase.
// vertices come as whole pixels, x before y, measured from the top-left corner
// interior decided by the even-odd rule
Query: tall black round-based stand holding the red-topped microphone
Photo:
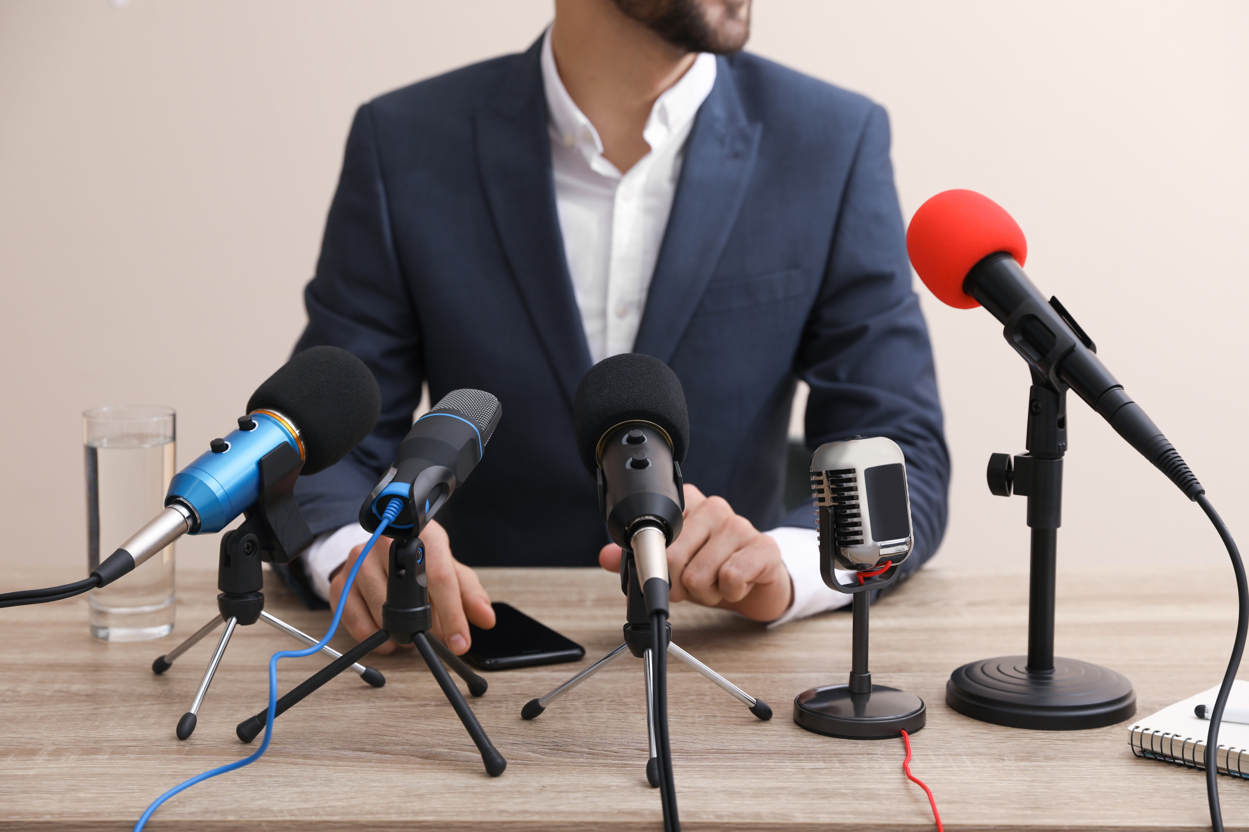
[[[963,665],[950,674],[945,704],[982,722],[1040,731],[1115,725],[1137,712],[1132,682],[1078,659],[1054,657],[1054,565],[1062,525],[1063,454],[1067,452],[1067,390],[1033,372],[1028,397],[1027,454],[989,458],[989,490],[1028,498],[1032,576],[1028,591],[1028,655]]]

